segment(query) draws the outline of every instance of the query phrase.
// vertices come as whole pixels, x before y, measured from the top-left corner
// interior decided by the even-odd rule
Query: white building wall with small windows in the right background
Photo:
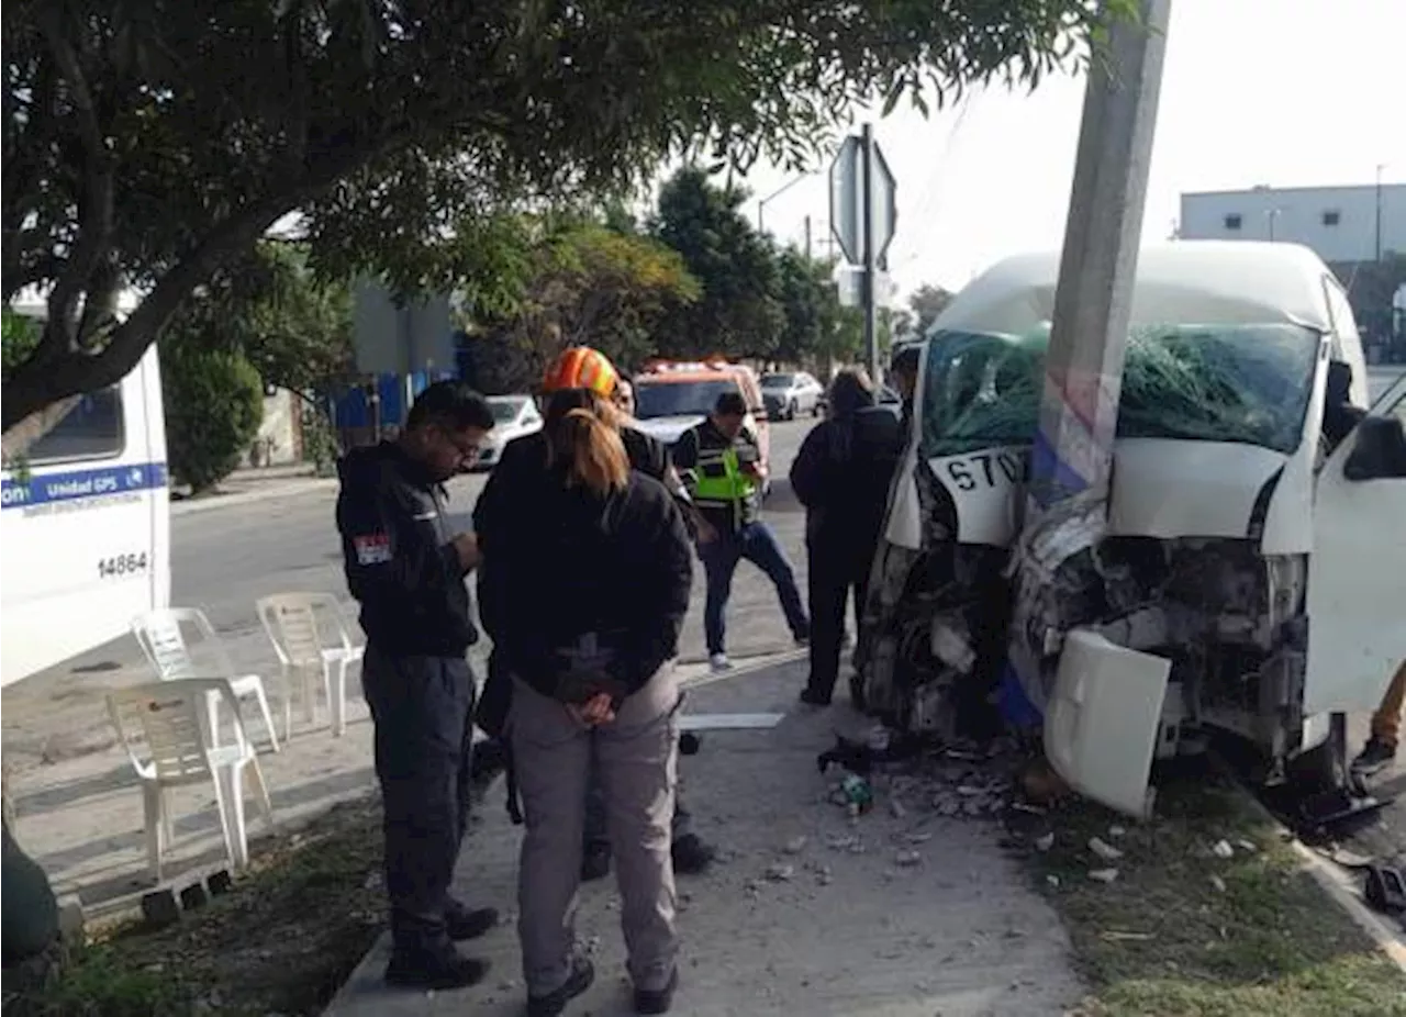
[[[1181,196],[1178,235],[1191,241],[1284,241],[1324,262],[1376,257],[1378,188],[1257,187]],[[1406,184],[1381,188],[1382,252],[1406,253]]]

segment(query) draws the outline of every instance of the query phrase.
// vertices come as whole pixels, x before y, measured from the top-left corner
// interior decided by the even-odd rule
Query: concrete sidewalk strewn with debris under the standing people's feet
[[[673,1013],[692,1017],[1050,1017],[1080,996],[1066,934],[1029,879],[998,847],[993,820],[939,816],[932,795],[886,795],[851,823],[830,803],[834,775],[815,754],[832,743],[844,706],[796,705],[804,661],[707,681],[689,713],[785,712],[769,731],[710,731],[683,762],[699,831],[724,848],[709,875],[679,883],[685,938]],[[901,819],[898,816],[903,816]],[[494,971],[451,993],[391,992],[382,941],[328,1014],[522,1013],[513,912],[519,831],[489,792],[461,859],[458,892],[492,904],[505,924],[472,944]],[[619,904],[609,881],[583,888],[578,933],[596,985],[568,1013],[633,1013]]]

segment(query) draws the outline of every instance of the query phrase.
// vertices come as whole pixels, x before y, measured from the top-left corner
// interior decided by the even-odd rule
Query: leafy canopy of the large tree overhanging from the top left
[[[628,193],[683,153],[731,169],[761,158],[814,163],[856,101],[883,96],[893,108],[907,93],[922,110],[973,83],[1035,82],[1080,58],[1102,8],[0,4],[10,72],[0,87],[0,298],[55,283],[63,294],[101,294],[111,267],[149,293],[111,335],[87,325],[72,335],[62,316],[52,321],[0,387],[0,432],[129,370],[180,301],[287,214],[301,212],[323,277],[367,273],[405,290],[472,279],[474,308],[505,314],[533,245],[502,232],[478,238],[464,224],[501,231],[546,203]],[[1128,14],[1135,0],[1107,10]],[[733,245],[765,267],[735,236],[695,239],[700,256]],[[721,338],[763,350],[778,321],[770,283],[741,283],[735,308],[718,308]]]

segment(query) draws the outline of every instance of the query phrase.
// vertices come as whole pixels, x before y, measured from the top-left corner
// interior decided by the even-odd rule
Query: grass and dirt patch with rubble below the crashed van
[[[1080,1017],[1406,1014],[1406,976],[1243,791],[1201,774],[1164,785],[1157,812],[1078,803],[1028,840],[1095,987]]]

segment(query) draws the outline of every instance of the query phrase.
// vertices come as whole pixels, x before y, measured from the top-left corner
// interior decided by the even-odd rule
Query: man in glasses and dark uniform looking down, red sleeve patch
[[[478,549],[471,533],[450,535],[441,487],[492,426],[481,395],[440,381],[415,401],[395,442],[339,463],[337,530],[361,605],[361,681],[385,803],[392,985],[474,985],[488,964],[461,957],[453,941],[498,924],[492,909],[468,910],[449,892],[468,821],[474,675],[464,654],[478,632],[464,577]]]

